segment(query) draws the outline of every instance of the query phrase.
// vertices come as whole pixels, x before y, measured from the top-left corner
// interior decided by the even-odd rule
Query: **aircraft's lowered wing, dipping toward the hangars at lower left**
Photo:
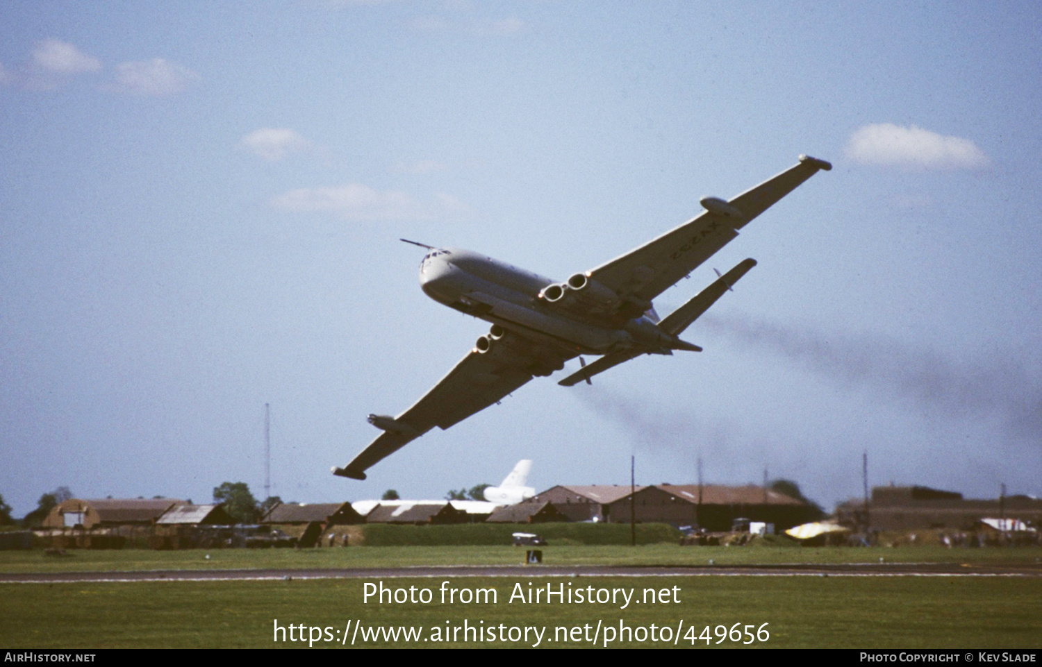
[[[488,352],[475,348],[422,399],[394,418],[376,417],[386,428],[378,438],[333,474],[366,479],[365,470],[394,454],[430,429],[463,421],[501,400],[536,375],[534,365],[546,361],[546,350],[507,334],[493,341]],[[562,363],[565,357],[562,357]]]

